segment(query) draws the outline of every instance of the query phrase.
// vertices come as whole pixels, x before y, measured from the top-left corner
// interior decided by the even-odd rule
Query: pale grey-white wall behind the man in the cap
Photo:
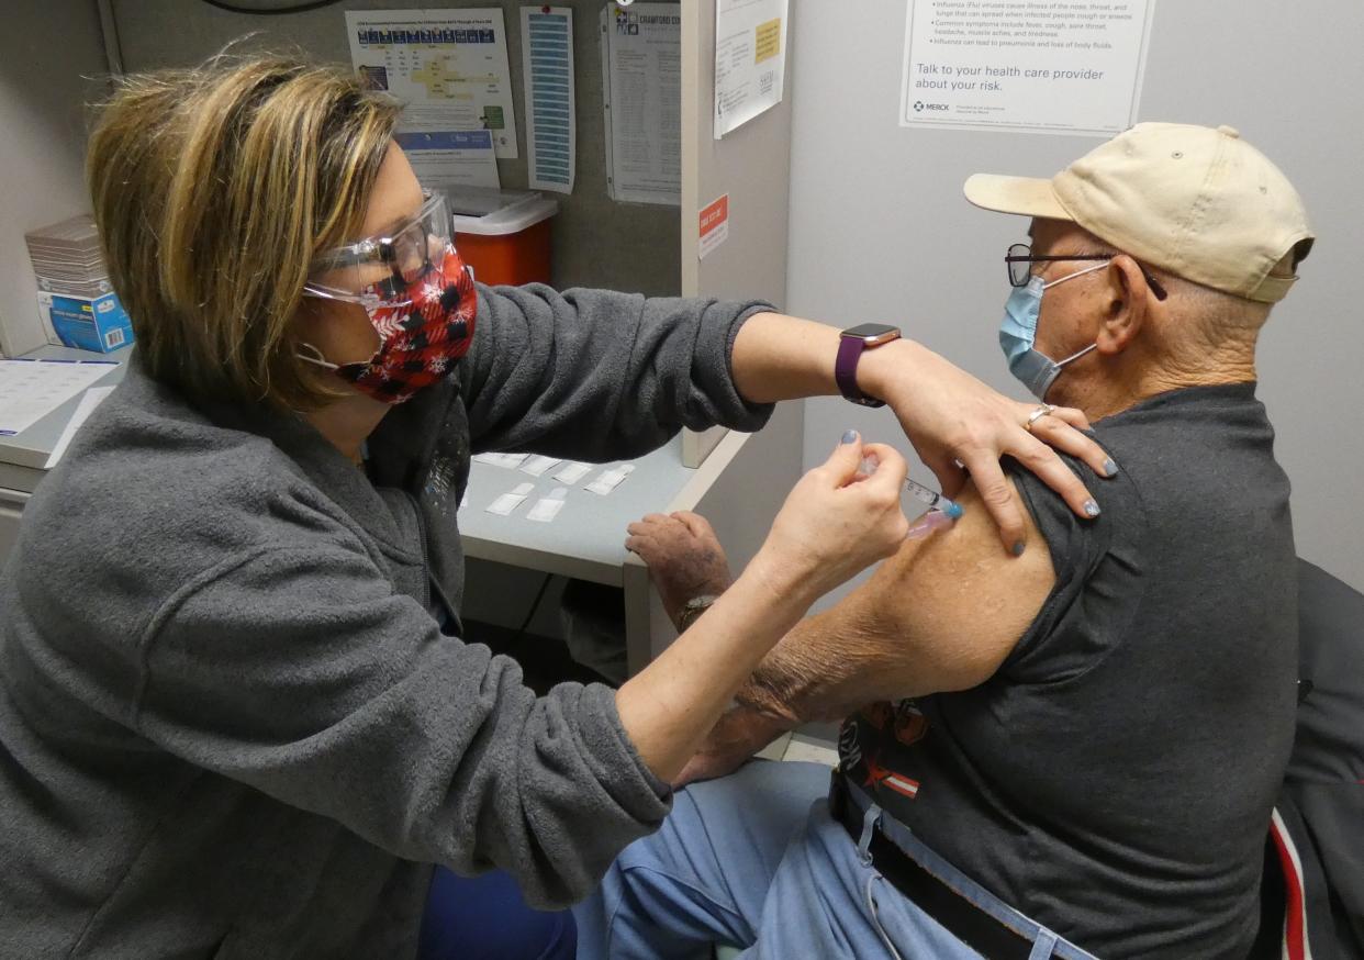
[[[1027,398],[996,341],[1004,250],[1026,221],[962,198],[973,172],[1050,176],[1099,143],[898,125],[904,0],[799,4],[787,307],[844,326],[891,322]],[[1329,12],[1327,12],[1329,11]],[[1318,241],[1275,311],[1259,395],[1293,481],[1299,554],[1364,589],[1364,5],[1162,0],[1140,120],[1230,124],[1303,194]],[[805,457],[837,435],[898,435],[885,410],[809,401]],[[899,446],[911,453],[899,434]],[[914,464],[915,470],[922,466]],[[923,476],[923,473],[919,473]]]

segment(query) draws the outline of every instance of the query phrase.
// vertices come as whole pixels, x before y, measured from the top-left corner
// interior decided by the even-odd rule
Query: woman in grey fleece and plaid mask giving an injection
[[[840,337],[758,301],[473,284],[398,113],[345,70],[221,57],[124,78],[100,115],[87,173],[138,348],[0,573],[15,956],[412,956],[450,901],[498,901],[447,940],[501,949],[481,938],[527,929],[525,904],[445,896],[432,865],[502,869],[537,905],[582,896],[657,828],[757,659],[904,536],[904,461],[866,447],[880,466],[851,483],[854,434],[619,690],[536,698],[466,642],[471,453],[615,460],[682,425],[756,430],[769,404],[835,393]],[[1030,405],[922,346],[839,370],[941,480],[959,458],[1004,484],[1012,454],[1088,499],[1023,430]],[[1008,547],[1019,505],[993,503]]]

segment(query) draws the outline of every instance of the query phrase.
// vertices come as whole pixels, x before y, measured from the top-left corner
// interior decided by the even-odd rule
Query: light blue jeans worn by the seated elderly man
[[[829,817],[828,784],[825,766],[758,761],[678,792],[573,908],[578,957],[708,960],[730,944],[745,960],[979,960],[863,859]]]

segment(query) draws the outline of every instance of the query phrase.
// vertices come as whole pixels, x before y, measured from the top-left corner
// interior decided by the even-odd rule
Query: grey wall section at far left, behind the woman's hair
[[[90,210],[85,104],[106,89],[94,0],[19,0],[0,30],[0,353],[44,341],[26,230]]]

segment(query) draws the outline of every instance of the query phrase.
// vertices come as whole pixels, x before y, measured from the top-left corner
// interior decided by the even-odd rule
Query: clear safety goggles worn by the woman
[[[411,303],[409,288],[445,263],[453,244],[442,194],[423,192],[421,209],[389,236],[334,247],[312,260],[303,292],[361,305]]]

